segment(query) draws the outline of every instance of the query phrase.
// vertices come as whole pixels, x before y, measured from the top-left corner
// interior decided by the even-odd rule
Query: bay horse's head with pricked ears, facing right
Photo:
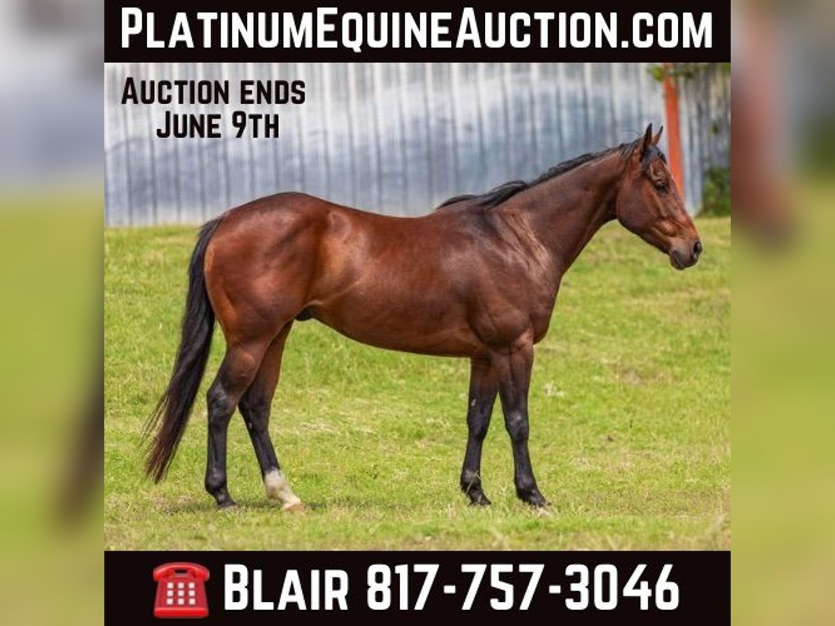
[[[615,199],[615,216],[626,229],[669,255],[676,270],[684,270],[699,260],[701,240],[658,149],[662,130],[653,137],[650,124],[635,143]]]

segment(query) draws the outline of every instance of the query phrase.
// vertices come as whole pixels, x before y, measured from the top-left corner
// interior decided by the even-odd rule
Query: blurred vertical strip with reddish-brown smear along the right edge
[[[732,3],[735,623],[835,614],[832,3]]]

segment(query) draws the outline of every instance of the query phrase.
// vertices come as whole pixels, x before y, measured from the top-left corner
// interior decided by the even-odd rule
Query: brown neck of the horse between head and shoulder
[[[519,194],[510,210],[564,273],[600,227],[614,218],[621,175],[619,159],[610,155],[535,185]]]

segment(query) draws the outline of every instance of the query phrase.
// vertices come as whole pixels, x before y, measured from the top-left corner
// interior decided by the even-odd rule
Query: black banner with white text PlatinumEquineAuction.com
[[[297,7],[297,5],[296,5]],[[104,3],[105,62],[726,62],[719,0]]]

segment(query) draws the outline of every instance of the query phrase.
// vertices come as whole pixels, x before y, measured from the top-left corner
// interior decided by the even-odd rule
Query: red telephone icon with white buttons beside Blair
[[[209,570],[196,563],[165,563],[154,568],[155,618],[205,618],[209,615],[205,581]]]

